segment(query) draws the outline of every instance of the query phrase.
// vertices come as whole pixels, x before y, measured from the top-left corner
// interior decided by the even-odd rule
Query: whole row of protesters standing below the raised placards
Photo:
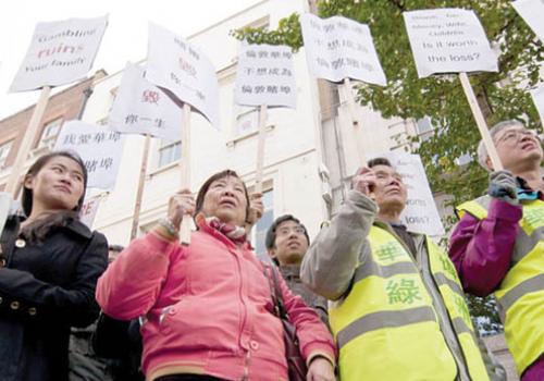
[[[401,223],[406,185],[376,158],[311,243],[277,218],[270,261],[248,241],[260,195],[234,171],[175,193],[123,248],[79,221],[81,158],[46,155],[1,235],[0,380],[288,380],[284,319],[308,381],[506,380],[465,293],[495,294],[521,380],[544,380],[543,150],[516,121],[491,135],[505,170],[481,144],[489,192],[458,207],[447,251]]]

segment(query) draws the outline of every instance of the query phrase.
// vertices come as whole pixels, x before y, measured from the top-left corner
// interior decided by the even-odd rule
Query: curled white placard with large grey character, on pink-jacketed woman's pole
[[[152,23],[146,78],[172,91],[219,128],[219,83],[212,63],[185,39]]]

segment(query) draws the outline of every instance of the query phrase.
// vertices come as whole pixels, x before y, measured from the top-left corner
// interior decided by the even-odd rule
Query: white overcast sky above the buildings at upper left
[[[0,119],[38,99],[37,90],[8,93],[38,22],[109,14],[109,24],[89,74],[99,69],[112,74],[122,70],[126,61],[135,62],[146,57],[148,21],[188,37],[257,2],[259,0],[8,1],[0,12]]]

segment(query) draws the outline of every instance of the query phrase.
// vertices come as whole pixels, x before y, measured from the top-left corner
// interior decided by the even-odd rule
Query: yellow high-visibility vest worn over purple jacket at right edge
[[[457,209],[483,220],[491,197],[480,197]],[[505,336],[521,374],[544,354],[544,201],[522,201],[523,217],[514,245],[512,265],[495,291]]]

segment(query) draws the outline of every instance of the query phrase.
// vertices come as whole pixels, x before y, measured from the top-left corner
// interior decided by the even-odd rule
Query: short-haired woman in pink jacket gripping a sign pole
[[[97,300],[116,319],[143,317],[143,369],[148,380],[287,380],[283,328],[273,315],[264,266],[246,241],[249,198],[233,171],[211,176],[196,204],[184,189],[168,218],[134,241],[100,278]],[[178,244],[185,213],[198,230]],[[282,297],[297,328],[308,380],[334,380],[334,344],[317,314]]]

